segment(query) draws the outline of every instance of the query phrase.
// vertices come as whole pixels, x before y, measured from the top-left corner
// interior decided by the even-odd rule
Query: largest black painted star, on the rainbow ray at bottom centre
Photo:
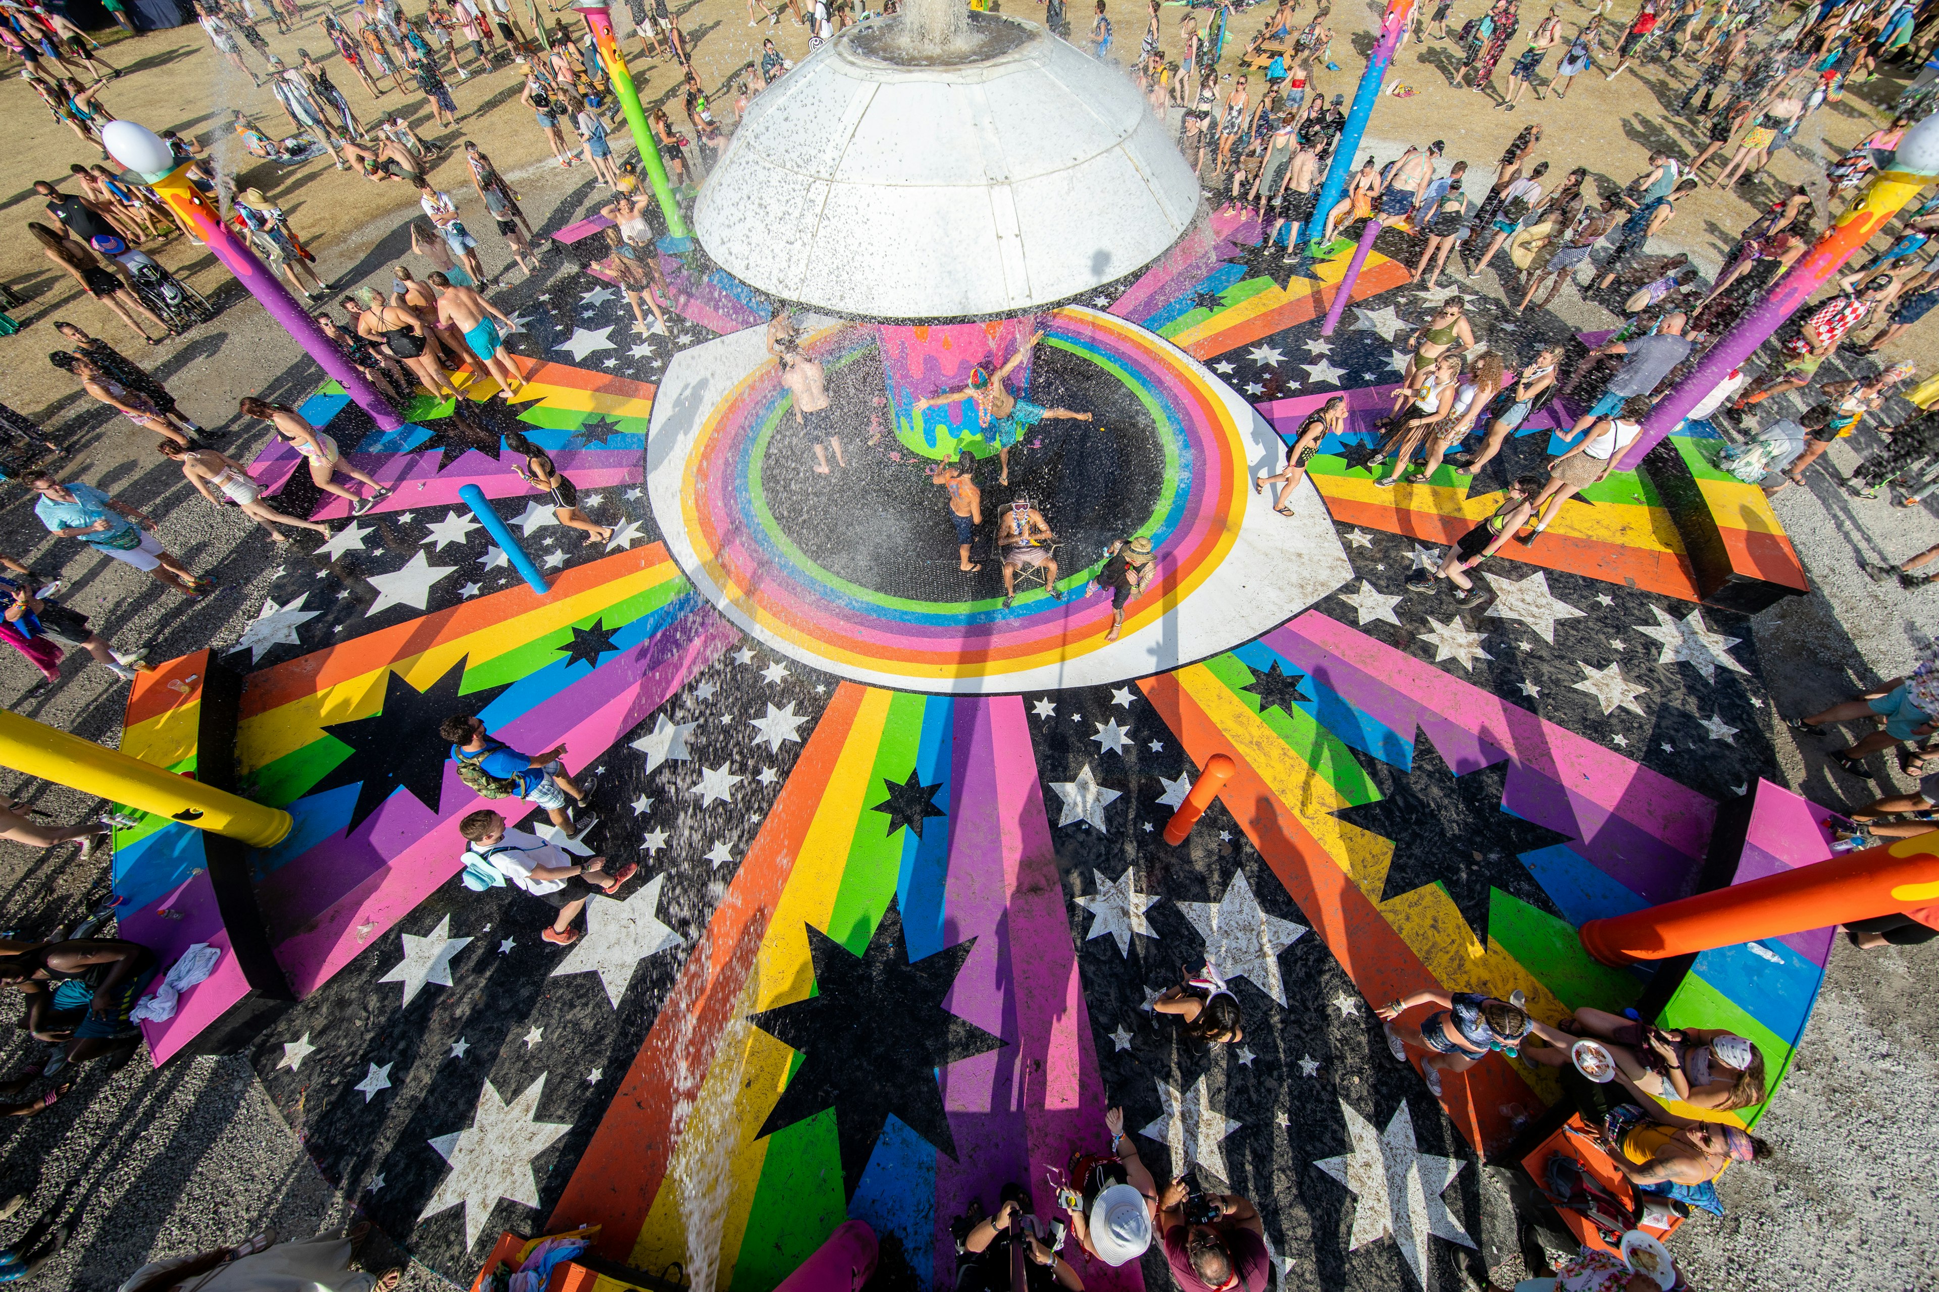
[[[975,938],[911,965],[894,897],[861,955],[807,928],[816,994],[748,1015],[805,1054],[760,1135],[834,1108],[843,1197],[855,1197],[890,1114],[954,1162],[937,1069],[1008,1044],[942,1009]]]

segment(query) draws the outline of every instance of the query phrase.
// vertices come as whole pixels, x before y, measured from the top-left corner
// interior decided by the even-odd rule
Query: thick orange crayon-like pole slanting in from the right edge
[[[1169,829],[1165,839],[1171,839]],[[1939,831],[1590,920],[1576,936],[1604,965],[1637,965],[1827,924],[1923,912],[1939,912]]]

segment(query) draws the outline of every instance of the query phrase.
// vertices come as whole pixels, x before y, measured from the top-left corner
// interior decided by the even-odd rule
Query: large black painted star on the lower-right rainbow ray
[[[1394,841],[1381,901],[1441,883],[1483,947],[1493,889],[1561,916],[1518,854],[1569,843],[1569,835],[1503,810],[1507,761],[1456,777],[1427,732],[1414,738],[1412,771],[1375,757],[1359,761],[1381,800],[1334,815]]]

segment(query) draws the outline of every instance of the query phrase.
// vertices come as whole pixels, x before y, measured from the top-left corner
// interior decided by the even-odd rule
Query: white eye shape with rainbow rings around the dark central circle
[[[764,329],[684,351],[667,366],[648,432],[648,492],[661,535],[694,587],[776,651],[874,686],[1002,693],[1123,682],[1227,651],[1282,624],[1350,568],[1311,484],[1295,517],[1251,486],[1278,469],[1278,436],[1235,391],[1161,337],[1096,310],[1041,320],[1063,347],[1123,382],[1163,436],[1165,484],[1138,533],[1158,581],[1115,643],[1107,597],[1030,593],[921,602],[838,579],[789,542],[762,502],[762,461],[787,411]],[[871,343],[865,325],[816,327],[809,351],[834,364]],[[1065,587],[1082,591],[1084,571]]]

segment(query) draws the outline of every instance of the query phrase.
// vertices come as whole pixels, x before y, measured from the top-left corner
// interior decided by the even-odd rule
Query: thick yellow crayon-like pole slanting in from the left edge
[[[252,804],[240,794],[217,790],[17,713],[0,713],[0,767],[256,848],[281,843],[291,827],[291,817],[281,808]]]

